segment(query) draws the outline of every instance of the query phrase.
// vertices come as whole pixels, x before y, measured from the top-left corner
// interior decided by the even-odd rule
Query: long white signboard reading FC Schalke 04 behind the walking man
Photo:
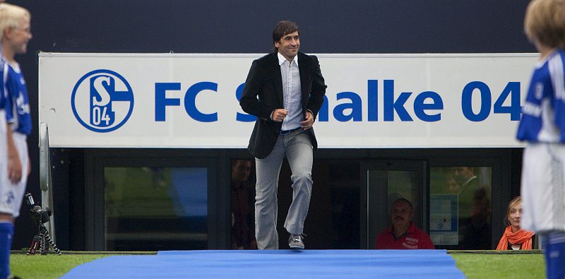
[[[39,54],[52,147],[245,148],[263,54]],[[317,54],[320,148],[516,147],[537,54]]]

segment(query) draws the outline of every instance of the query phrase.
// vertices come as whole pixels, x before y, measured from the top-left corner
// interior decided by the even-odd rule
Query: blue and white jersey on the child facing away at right
[[[520,141],[565,143],[565,52],[537,63],[518,126]]]

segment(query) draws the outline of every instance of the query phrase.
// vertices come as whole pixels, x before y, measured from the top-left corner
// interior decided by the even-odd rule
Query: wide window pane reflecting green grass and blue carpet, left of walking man
[[[107,251],[206,249],[208,170],[105,167]]]

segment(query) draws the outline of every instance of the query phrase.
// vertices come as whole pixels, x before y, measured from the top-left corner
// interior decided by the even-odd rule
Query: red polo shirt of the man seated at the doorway
[[[435,247],[427,233],[411,222],[406,233],[399,239],[394,239],[393,226],[383,230],[376,237],[375,249],[435,249]]]

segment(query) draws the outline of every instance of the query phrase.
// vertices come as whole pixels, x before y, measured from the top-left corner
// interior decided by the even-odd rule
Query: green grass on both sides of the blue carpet
[[[10,266],[13,275],[20,278],[59,278],[69,272],[71,268],[81,263],[87,263],[105,256],[137,253],[103,253],[88,254],[87,252],[73,252],[77,254],[63,254],[57,256],[25,254],[11,254]],[[95,252],[93,252],[95,253]],[[141,252],[139,254],[155,254]],[[450,251],[456,260],[457,268],[470,279],[474,278],[545,278],[545,261],[543,254],[524,254],[508,252],[464,253]]]

